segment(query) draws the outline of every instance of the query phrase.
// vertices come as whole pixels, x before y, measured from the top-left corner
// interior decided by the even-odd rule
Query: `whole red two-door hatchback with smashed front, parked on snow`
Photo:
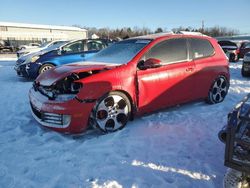
[[[169,33],[127,39],[88,61],[46,71],[29,98],[45,127],[113,132],[134,116],[176,104],[222,102],[228,88],[228,60],[215,39]]]

